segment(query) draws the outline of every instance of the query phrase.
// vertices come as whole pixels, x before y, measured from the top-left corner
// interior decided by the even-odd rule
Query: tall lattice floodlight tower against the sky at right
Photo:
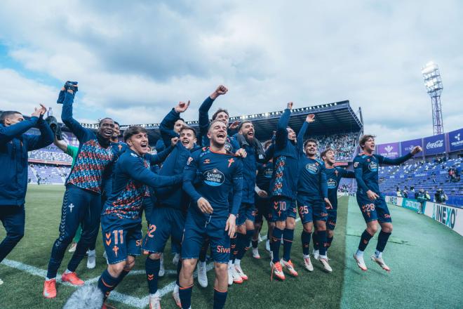
[[[436,63],[427,63],[421,70],[427,93],[431,97],[432,129],[434,135],[443,133],[441,93],[443,90],[441,73]]]

